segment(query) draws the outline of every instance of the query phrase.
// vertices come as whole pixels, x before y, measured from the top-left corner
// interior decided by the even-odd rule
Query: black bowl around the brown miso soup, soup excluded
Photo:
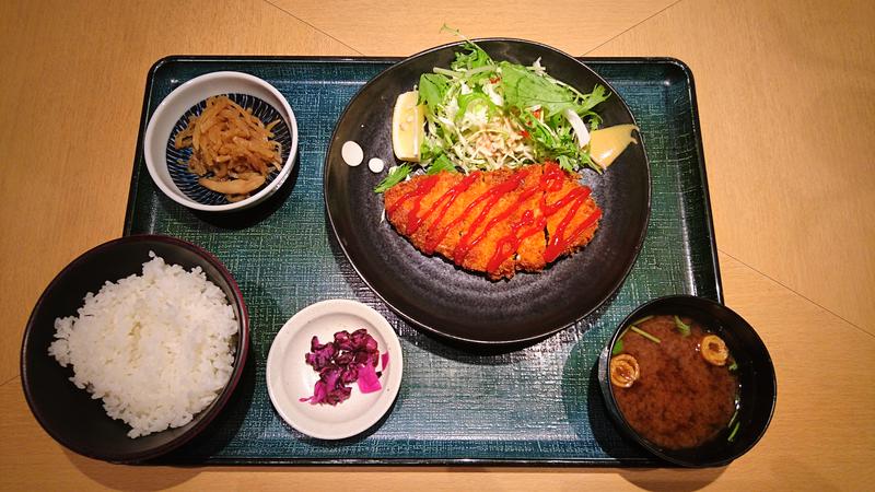
[[[666,449],[639,435],[626,421],[614,398],[614,387],[608,377],[608,362],[614,344],[622,329],[635,319],[650,315],[689,316],[708,331],[721,337],[738,364],[740,406],[738,431],[732,442],[730,429],[711,441],[687,449]],[[762,340],[754,328],[732,309],[710,300],[693,296],[669,296],[652,301],[633,311],[617,328],[599,358],[599,384],[608,411],[622,431],[653,454],[668,461],[691,466],[720,466],[732,461],[750,449],[765,434],[774,411],[777,383],[774,366]]]

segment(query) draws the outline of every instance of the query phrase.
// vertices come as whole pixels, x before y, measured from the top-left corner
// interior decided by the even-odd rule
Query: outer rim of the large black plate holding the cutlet
[[[617,95],[617,99],[620,102],[620,104],[622,104],[622,107],[626,109],[626,112],[631,117],[632,124],[635,127],[639,127],[638,120],[635,119],[635,116],[632,113],[632,109],[626,103],[626,99],[623,99],[621,96],[619,96],[619,93],[614,89],[612,85],[610,85],[610,83],[607,80],[605,80],[605,78],[603,78],[602,75],[596,73],[593,69],[591,69],[586,63],[584,63],[583,61],[581,61],[576,57],[571,56],[568,52],[565,52],[565,51],[563,51],[563,50],[561,50],[559,48],[555,48],[555,47],[552,47],[550,45],[546,45],[544,43],[538,43],[538,42],[534,42],[534,40],[530,40],[530,39],[523,39],[523,38],[516,38],[516,37],[503,37],[503,36],[478,37],[478,38],[472,38],[472,39],[460,39],[460,40],[456,40],[456,42],[452,42],[452,43],[445,43],[445,44],[442,44],[442,45],[439,45],[439,46],[434,46],[434,47],[431,47],[431,48],[427,48],[427,49],[423,49],[423,50],[421,50],[419,52],[410,55],[408,57],[404,57],[402,59],[397,61],[396,65],[405,63],[405,62],[407,62],[407,61],[409,61],[411,59],[419,58],[419,57],[421,57],[423,55],[428,55],[428,54],[433,52],[433,51],[439,51],[439,50],[446,49],[446,48],[452,48],[452,47],[459,47],[459,46],[463,46],[465,43],[468,43],[468,42],[470,42],[470,43],[510,42],[510,43],[517,43],[517,44],[534,45],[534,46],[538,46],[540,48],[544,48],[544,49],[547,49],[547,50],[550,50],[550,51],[558,52],[558,54],[564,56],[565,58],[572,60],[573,62],[578,63],[579,66],[581,66],[584,70],[586,70],[593,77],[595,77],[599,81],[600,84],[603,84],[605,87],[607,87],[612,94]],[[368,87],[368,85],[370,85],[371,83],[373,83],[377,79],[386,77],[386,71],[388,71],[388,70],[380,72],[373,79],[368,81],[368,83],[365,85],[360,87],[350,97],[350,101],[355,99],[359,96],[359,94]],[[350,105],[347,104],[347,106],[343,108],[343,112],[338,117],[337,124],[335,125],[335,128],[331,131],[331,137],[329,139],[329,142],[334,142],[335,141],[335,139],[337,137],[338,129],[340,127],[340,121],[346,116],[347,112],[349,110],[349,107],[350,107]],[[642,141],[640,142],[640,144],[643,148],[643,145],[644,145],[643,137],[641,137],[641,140]],[[617,277],[612,289],[610,289],[610,292],[607,292],[605,294],[605,296],[597,304],[595,304],[590,311],[587,311],[585,313],[581,313],[580,315],[578,315],[574,319],[572,319],[567,325],[552,327],[548,331],[545,331],[545,332],[541,332],[541,333],[537,333],[537,335],[532,335],[532,336],[528,336],[528,337],[522,337],[522,338],[518,338],[518,339],[511,339],[511,340],[479,340],[479,339],[475,339],[475,338],[467,338],[467,337],[462,337],[462,336],[457,336],[457,335],[453,335],[453,333],[447,333],[444,330],[440,329],[439,327],[434,327],[434,326],[432,326],[432,325],[430,325],[430,324],[428,324],[425,321],[422,321],[420,319],[413,318],[412,316],[410,316],[407,313],[405,313],[405,311],[398,308],[395,304],[388,302],[386,300],[386,297],[383,295],[383,293],[380,292],[377,289],[375,289],[373,286],[371,280],[362,272],[360,267],[355,262],[352,261],[350,253],[347,249],[347,246],[343,244],[342,241],[340,241],[341,238],[340,238],[340,235],[339,235],[339,233],[337,231],[336,220],[331,215],[331,209],[330,209],[329,203],[328,203],[328,188],[327,188],[328,187],[328,181],[325,178],[323,179],[323,201],[324,201],[324,207],[325,207],[325,210],[326,210],[326,216],[328,219],[328,223],[331,226],[331,232],[334,233],[335,238],[338,239],[337,243],[340,246],[340,249],[343,251],[343,256],[347,258],[347,261],[350,263],[350,266],[352,267],[353,271],[355,271],[355,273],[362,280],[362,282],[364,282],[365,285],[368,285],[368,288],[374,294],[376,294],[376,296],[380,297],[380,300],[386,306],[388,306],[394,313],[396,313],[402,319],[405,319],[406,321],[412,324],[415,327],[421,328],[421,329],[423,329],[423,330],[425,330],[425,331],[428,331],[428,332],[430,332],[432,335],[435,335],[438,337],[444,338],[444,339],[450,340],[450,341],[460,342],[463,344],[467,344],[467,345],[472,347],[472,348],[489,348],[489,347],[497,348],[497,347],[512,347],[512,345],[524,344],[524,343],[534,343],[534,342],[537,342],[537,341],[540,341],[540,340],[545,340],[548,337],[553,336],[553,335],[556,335],[556,333],[558,333],[558,332],[560,332],[562,330],[565,330],[570,326],[574,325],[575,323],[579,323],[580,320],[582,320],[582,319],[586,318],[587,316],[590,316],[591,314],[595,313],[600,306],[604,306],[605,303],[607,303],[611,298],[611,296],[614,296],[622,288],[622,285],[626,283],[626,280],[629,278],[629,274],[632,272],[632,268],[635,265],[635,260],[641,255],[641,249],[644,247],[644,241],[646,239],[646,236],[648,236],[648,230],[649,230],[649,225],[650,225],[650,220],[651,220],[651,216],[653,215],[653,211],[652,211],[652,206],[653,206],[653,175],[651,173],[650,156],[648,155],[646,150],[643,150],[642,153],[644,155],[644,163],[645,163],[644,168],[645,168],[646,175],[648,175],[646,216],[645,216],[645,220],[644,220],[644,226],[642,227],[641,234],[639,235],[639,237],[638,237],[638,239],[637,239],[637,242],[634,244],[632,260],[629,261],[629,265],[626,267],[626,270],[622,272],[622,274]],[[329,167],[328,152],[326,151],[326,153],[325,153],[325,162],[323,164],[323,176],[327,175],[328,167]]]

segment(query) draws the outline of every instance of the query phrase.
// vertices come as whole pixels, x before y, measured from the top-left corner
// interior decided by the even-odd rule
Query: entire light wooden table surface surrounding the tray
[[[875,3],[759,0],[0,2],[0,484],[4,489],[871,490],[875,472]],[[425,2],[422,2],[425,3]],[[151,468],[83,458],[19,377],[49,280],[121,234],[145,74],[161,57],[407,56],[470,37],[670,56],[696,77],[726,304],[779,382],[763,440],[704,470]]]

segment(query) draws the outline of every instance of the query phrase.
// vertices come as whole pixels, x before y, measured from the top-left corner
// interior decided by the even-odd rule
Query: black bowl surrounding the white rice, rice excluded
[[[48,354],[54,341],[55,319],[71,316],[82,306],[88,292],[96,293],[105,281],[142,273],[149,251],[167,263],[190,270],[200,267],[207,278],[229,298],[238,320],[234,372],[219,397],[188,424],[147,436],[130,438],[130,427],[110,419],[102,401],[77,388],[69,378],[70,366],[61,367]],[[21,374],[27,402],[43,427],[66,447],[108,461],[138,461],[166,453],[199,433],[230,398],[243,372],[248,348],[246,307],[233,279],[219,263],[201,256],[185,242],[161,236],[130,236],[101,245],[70,263],[49,284],[37,302],[25,329]]]

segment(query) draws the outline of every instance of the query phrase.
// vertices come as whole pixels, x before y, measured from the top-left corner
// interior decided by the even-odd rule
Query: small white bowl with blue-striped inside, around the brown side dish
[[[272,131],[282,148],[282,169],[271,173],[260,189],[237,202],[230,202],[224,195],[200,186],[198,176],[186,165],[191,149],[177,150],[174,145],[176,133],[186,127],[188,117],[199,115],[207,98],[222,94],[252,108],[265,124],[280,120]],[[267,199],[291,174],[298,153],[298,122],[285,97],[264,80],[241,72],[213,72],[185,82],[161,102],[149,120],[143,151],[155,185],[177,203],[213,212],[243,210]]]

